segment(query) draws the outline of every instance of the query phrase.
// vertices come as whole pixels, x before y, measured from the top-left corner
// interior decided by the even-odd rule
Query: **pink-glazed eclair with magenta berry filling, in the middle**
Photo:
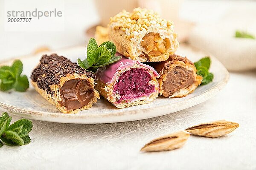
[[[120,54],[118,54],[120,55]],[[159,94],[159,74],[149,65],[122,57],[118,62],[98,68],[97,91],[116,108],[152,102]]]

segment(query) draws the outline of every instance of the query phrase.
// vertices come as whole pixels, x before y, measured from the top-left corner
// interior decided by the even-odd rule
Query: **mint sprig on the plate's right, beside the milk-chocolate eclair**
[[[203,77],[201,85],[207,85],[209,82],[212,82],[213,74],[209,72],[211,65],[211,60],[209,57],[204,57],[197,62],[194,62],[195,68],[197,69],[196,74]]]

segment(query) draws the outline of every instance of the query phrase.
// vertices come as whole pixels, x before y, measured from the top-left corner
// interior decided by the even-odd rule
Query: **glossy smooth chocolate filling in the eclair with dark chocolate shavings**
[[[67,110],[82,108],[94,97],[94,91],[89,82],[80,79],[71,79],[64,83],[60,89],[61,104]]]

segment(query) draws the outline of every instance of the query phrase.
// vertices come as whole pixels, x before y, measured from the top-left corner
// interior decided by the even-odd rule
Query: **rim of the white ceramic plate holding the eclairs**
[[[192,46],[189,46],[189,45],[181,45],[180,46],[184,46],[186,48],[191,48],[193,50],[196,50],[196,51],[201,51],[203,52],[204,54],[206,54],[205,51],[203,50],[198,50]],[[79,46],[74,46],[74,47],[70,47],[70,48],[63,48],[63,49],[59,49],[59,50],[55,50],[55,51],[47,51],[47,53],[59,53],[61,51],[70,51],[70,50],[73,50],[73,49],[76,49],[76,48],[84,48],[83,45],[79,45]],[[35,55],[40,55],[40,54],[45,54],[46,51],[44,52],[40,52],[38,54],[30,54],[30,55],[27,55],[27,56],[21,56],[21,57],[15,57],[15,58],[11,58],[11,59],[7,59],[7,60],[1,60],[0,61],[0,65],[3,65],[4,63],[6,62],[12,62],[14,61],[15,59],[24,59],[24,58],[29,58],[29,57],[35,57]],[[209,52],[207,52],[207,54],[209,54]],[[211,56],[211,59],[213,59],[215,62],[218,62],[218,64],[220,64],[223,68],[224,68],[224,79],[221,80],[221,82],[218,82],[216,85],[214,85],[212,88],[208,89],[207,91],[205,91],[204,93],[198,95],[198,96],[195,96],[195,97],[192,97],[190,99],[186,99],[186,100],[183,100],[183,101],[180,101],[179,104],[186,104],[188,105],[187,103],[192,103],[190,105],[188,105],[188,107],[186,108],[190,108],[192,106],[195,106],[195,105],[198,105],[202,102],[205,102],[207,101],[208,99],[210,99],[211,97],[215,96],[217,94],[218,91],[221,91],[221,89],[224,88],[224,86],[227,84],[228,80],[229,80],[229,72],[227,71],[227,69],[224,67],[224,65],[222,65],[222,63],[216,58],[214,57],[213,55],[209,54]],[[170,107],[172,106],[172,107]],[[139,110],[136,110],[136,111],[118,111],[118,112],[115,112],[115,113],[103,113],[103,114],[92,114],[92,113],[86,113],[86,114],[64,114],[64,113],[54,113],[54,112],[45,112],[45,111],[32,111],[30,109],[25,109],[25,108],[19,108],[19,107],[16,107],[16,106],[11,106],[11,105],[7,105],[7,104],[4,104],[2,102],[0,102],[0,109],[1,110],[4,110],[4,111],[7,111],[11,114],[14,114],[16,116],[22,116],[22,117],[25,117],[25,118],[28,118],[28,119],[35,119],[35,120],[40,120],[40,121],[47,121],[47,122],[58,122],[58,123],[79,123],[79,124],[95,124],[95,123],[116,123],[116,122],[128,122],[128,121],[134,121],[134,120],[141,120],[141,119],[150,119],[150,118],[153,118],[153,117],[158,117],[158,116],[163,116],[163,115],[166,115],[166,114],[170,114],[170,113],[174,113],[176,111],[181,111],[183,109],[177,109],[177,106],[175,105],[162,105],[162,106],[158,106],[158,107],[155,107],[153,108],[154,110],[157,110],[157,108],[161,108],[161,110],[169,110],[169,108],[172,108],[173,110],[168,113],[166,113],[166,111],[163,111],[159,114],[154,114],[152,116],[148,116],[146,118],[143,118],[143,117],[140,117],[139,119],[125,119],[125,120],[122,120],[122,121],[119,121],[118,119],[116,120],[113,120],[113,121],[95,121],[95,122],[91,122],[91,121],[77,121],[77,120],[87,120],[88,118],[100,118],[100,117],[104,117],[104,116],[120,116],[120,115],[124,115],[124,116],[129,116],[131,114],[134,114],[133,112],[138,112],[138,111],[143,111],[143,112],[147,112],[147,111],[152,111],[152,108],[140,108]],[[176,109],[176,110],[175,110]],[[185,109],[185,108],[184,108]],[[140,112],[138,112],[140,113]],[[136,114],[136,113],[135,113]],[[61,116],[60,116],[61,115]],[[67,121],[69,120],[69,121]],[[72,121],[73,120],[73,121]]]

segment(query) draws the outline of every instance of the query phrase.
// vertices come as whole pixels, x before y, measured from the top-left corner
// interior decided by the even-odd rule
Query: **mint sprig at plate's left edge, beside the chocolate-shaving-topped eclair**
[[[23,64],[15,60],[12,66],[0,67],[0,91],[8,91],[12,88],[15,91],[26,91],[29,88],[29,80],[26,75],[21,76]]]

